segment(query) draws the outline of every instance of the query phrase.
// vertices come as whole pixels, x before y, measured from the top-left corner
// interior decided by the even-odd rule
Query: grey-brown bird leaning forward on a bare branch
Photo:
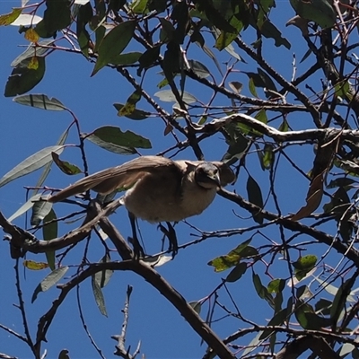
[[[137,218],[170,225],[200,215],[215,199],[217,189],[234,180],[233,171],[224,162],[173,161],[148,155],[84,177],[49,197],[48,202],[60,202],[89,189],[103,196],[127,189],[121,201],[129,214],[134,243],[139,246]],[[177,240],[173,241],[174,255]],[[139,251],[144,254],[142,248]]]

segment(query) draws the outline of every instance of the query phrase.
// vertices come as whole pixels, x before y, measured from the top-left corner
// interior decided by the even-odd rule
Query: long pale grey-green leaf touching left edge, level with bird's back
[[[39,168],[45,166],[48,162],[52,161],[51,153],[62,153],[64,146],[50,146],[43,148],[37,153],[32,154],[26,160],[19,163],[13,168],[13,170],[7,172],[2,179],[0,179],[0,187],[6,183],[16,180],[19,177],[25,176],[28,173],[39,170]]]

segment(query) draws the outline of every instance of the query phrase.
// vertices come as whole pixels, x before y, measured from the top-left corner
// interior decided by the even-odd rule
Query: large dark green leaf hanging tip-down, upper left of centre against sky
[[[92,71],[92,76],[103,66],[111,63],[127,47],[136,28],[136,22],[121,22],[102,39],[99,46],[99,57]]]

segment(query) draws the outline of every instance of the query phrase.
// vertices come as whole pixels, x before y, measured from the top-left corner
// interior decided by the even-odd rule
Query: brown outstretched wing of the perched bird
[[[107,170],[93,173],[91,176],[84,177],[73,185],[59,191],[48,198],[49,202],[59,202],[67,197],[82,193],[88,189],[93,189],[102,195],[107,195],[117,188],[129,188],[137,180],[144,177],[144,174],[153,171],[162,171],[164,168],[176,168],[181,171],[180,166],[170,159],[160,156],[142,156],[135,160],[125,162],[119,166],[111,167]]]

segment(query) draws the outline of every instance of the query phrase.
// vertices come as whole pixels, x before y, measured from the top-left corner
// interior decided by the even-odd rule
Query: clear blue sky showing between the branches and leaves
[[[18,6],[18,1],[2,1],[0,3],[0,13],[9,13],[13,6]],[[293,16],[293,10],[287,2],[276,2],[277,7],[273,10],[273,21],[285,32],[293,48],[275,48],[272,39],[267,39],[264,47],[264,54],[268,61],[276,67],[287,79],[290,79],[292,67],[293,52],[297,57],[302,57],[305,50],[300,48],[299,31],[293,28],[285,28],[285,22]],[[249,36],[250,35],[245,35]],[[10,63],[14,57],[17,57],[24,48],[17,45],[26,45],[26,40],[22,35],[17,33],[17,28],[13,26],[2,27],[0,29],[0,44],[2,59],[0,66],[0,84],[4,89],[4,84],[8,75],[11,73]],[[188,58],[196,58],[206,61],[217,79],[218,71],[215,66],[205,57],[198,48],[194,48],[188,53]],[[220,55],[221,61],[229,58],[228,54]],[[250,65],[240,63],[238,68],[243,71],[254,71],[255,68]],[[300,65],[299,65],[300,67]],[[47,57],[47,70],[44,79],[36,86],[31,93],[45,93],[49,97],[55,97],[62,101],[67,108],[74,111],[79,118],[81,130],[91,132],[97,127],[112,125],[121,127],[122,130],[130,129],[141,136],[151,139],[153,149],[140,151],[142,154],[155,154],[170,147],[173,144],[171,136],[162,136],[163,124],[159,118],[147,118],[144,121],[132,121],[127,118],[118,118],[117,111],[113,107],[115,102],[125,102],[133,89],[127,82],[109,68],[103,68],[98,74],[90,77],[93,64],[89,63],[84,57],[66,52],[57,51]],[[223,66],[224,68],[224,66]],[[236,74],[232,75],[232,79]],[[245,83],[244,92],[248,94],[246,85],[247,77],[244,74],[238,74],[238,80]],[[140,79],[137,78],[137,81]],[[161,75],[152,72],[146,75],[144,81],[145,90],[153,95],[158,91],[156,84],[162,80]],[[204,91],[198,84],[188,81],[188,91],[202,101],[208,101],[211,92]],[[220,102],[220,101],[219,101]],[[162,106],[171,110],[169,104],[161,103]],[[225,105],[230,106],[227,101]],[[21,106],[14,103],[11,98],[0,96],[0,149],[1,164],[0,177],[5,172],[10,171],[17,163],[36,153],[40,149],[49,145],[56,144],[58,137],[66,130],[71,123],[72,118],[65,111],[53,112],[40,109],[31,109],[30,107]],[[141,101],[138,104],[140,109],[149,109],[148,105]],[[293,125],[296,128],[307,126],[302,124],[302,118],[294,118]],[[74,131],[69,136],[68,144],[77,144],[78,140]],[[219,160],[225,152],[226,145],[223,138],[215,136],[215,140],[206,141],[202,147],[207,160]],[[101,148],[96,147],[89,142],[86,143],[86,153],[90,163],[90,172],[99,171],[109,166],[118,165],[126,162],[132,157],[119,156],[115,153],[109,153]],[[308,156],[312,156],[311,150]],[[295,159],[299,154],[293,154]],[[302,154],[301,154],[302,156]],[[77,149],[66,148],[61,158],[74,162],[81,166],[81,156]],[[194,159],[194,154],[187,149],[180,153],[178,159]],[[308,157],[310,158],[310,157]],[[252,162],[247,163],[250,174],[260,182],[263,193],[267,194],[268,172],[264,172],[259,167],[257,155],[254,153],[250,156]],[[311,169],[310,162],[304,162],[304,171]],[[304,204],[304,198],[308,189],[306,180],[298,180],[293,183],[291,180],[290,166],[284,164],[278,172],[278,188],[281,188],[281,204],[287,213],[295,212]],[[0,188],[0,209],[4,215],[10,216],[22,206],[25,202],[25,190],[23,186],[34,186],[38,180],[40,171],[32,173],[29,176],[15,180]],[[80,176],[69,177],[53,167],[46,185],[50,187],[63,188],[69,183],[78,180]],[[245,182],[246,174],[243,171],[240,179],[234,187],[238,193],[246,197]],[[288,198],[291,200],[288,201]],[[270,206],[270,205],[269,205]],[[269,207],[270,208],[270,207]],[[273,208],[272,208],[273,209]],[[56,206],[58,214],[66,214],[72,207],[65,205]],[[210,206],[203,215],[191,218],[188,222],[206,231],[216,229],[237,228],[250,225],[250,221],[244,221],[240,216],[233,215],[233,211],[241,216],[249,217],[248,213],[243,212],[240,208],[225,201],[222,197],[216,197],[215,202]],[[118,226],[120,232],[125,237],[129,235],[130,229],[127,221],[127,214],[123,208],[118,209],[118,213],[111,217],[111,220]],[[28,227],[25,217],[18,219],[17,224],[22,227]],[[148,223],[140,223],[144,244],[146,249],[151,253],[156,253],[161,246],[161,232],[157,231],[156,226]],[[70,228],[69,225],[62,225],[60,233],[65,233]],[[180,244],[194,239],[191,233],[194,233],[187,224],[179,223],[176,227]],[[276,228],[269,232],[274,239],[279,241]],[[196,246],[191,246],[187,250],[180,250],[179,255],[170,263],[159,267],[159,273],[164,276],[185,298],[189,301],[200,300],[211,293],[216,285],[221,283],[221,277],[224,274],[215,274],[212,267],[207,266],[207,262],[221,254],[232,250],[242,241],[249,238],[249,235],[233,236],[231,238],[211,239]],[[99,260],[103,255],[103,247],[92,238],[89,251],[89,258],[92,261]],[[258,244],[258,243],[257,243]],[[9,258],[8,244],[1,241],[0,250],[0,273],[2,273],[1,282],[4,290],[1,295],[0,323],[22,333],[22,320],[20,312],[12,305],[17,302],[13,275],[13,261]],[[79,245],[68,258],[67,264],[79,263],[83,253],[83,245]],[[44,255],[29,255],[27,258],[45,261]],[[117,259],[116,253],[113,258]],[[265,267],[256,268],[263,275]],[[283,265],[279,263],[276,267],[277,276],[283,270]],[[73,272],[74,273],[74,272]],[[39,316],[48,310],[51,302],[57,298],[58,290],[51,288],[47,293],[40,293],[36,302],[31,304],[31,295],[38,285],[39,281],[48,274],[47,271],[26,271],[22,273],[22,293],[26,302],[29,322],[31,323],[31,333],[36,330]],[[66,277],[62,282],[66,281]],[[127,285],[133,285],[134,291],[130,302],[130,319],[127,332],[127,345],[132,348],[136,347],[138,340],[142,342],[141,352],[147,358],[194,358],[204,354],[206,346],[200,346],[200,338],[193,332],[188,323],[180,317],[179,313],[167,302],[159,293],[150,285],[144,283],[142,278],[131,273],[116,273],[109,285],[104,288],[109,318],[101,316],[96,307],[92,295],[90,281],[81,285],[81,302],[86,324],[92,333],[96,343],[101,347],[107,357],[112,357],[115,341],[110,339],[111,335],[118,334],[122,324],[122,313]],[[261,301],[253,290],[250,271],[241,281],[234,283],[231,287],[234,294],[234,300],[241,303],[241,311],[245,313],[250,320],[257,321],[259,324],[266,324],[266,320],[272,316],[272,310],[267,303]],[[230,305],[228,297],[222,293],[223,301]],[[206,315],[206,314],[204,314]],[[223,323],[225,323],[223,325]],[[221,337],[230,335],[238,329],[241,322],[236,321],[219,321],[214,324],[214,328]],[[242,324],[242,323],[241,323]],[[248,343],[246,339],[243,343]],[[31,357],[27,346],[18,339],[10,336],[4,330],[0,330],[0,352],[9,355],[16,355],[21,358]],[[59,351],[63,348],[69,350],[71,358],[92,358],[97,357],[96,352],[90,345],[86,337],[78,316],[77,305],[75,302],[75,293],[71,293],[66,302],[57,312],[57,317],[48,332],[48,343],[43,345],[43,349],[48,350],[48,358],[57,357]]]

